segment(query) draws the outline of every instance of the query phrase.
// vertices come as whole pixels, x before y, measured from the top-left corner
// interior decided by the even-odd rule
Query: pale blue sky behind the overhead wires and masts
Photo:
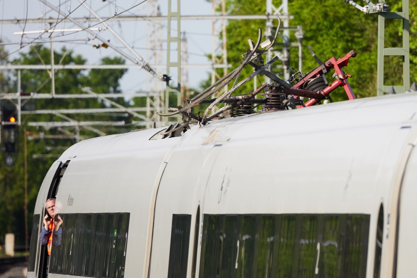
[[[85,0],[85,4],[90,6],[95,13],[98,13],[102,18],[111,17],[117,12],[121,12],[130,9],[123,13],[123,15],[147,15],[148,2],[143,0]],[[85,23],[82,23],[85,27],[88,26],[88,18],[93,18],[88,9],[80,6],[78,0],[60,0],[60,1],[51,1],[49,3],[55,5],[55,7],[60,7],[61,10],[64,10],[65,14],[68,15],[68,11],[71,11],[71,15],[74,18],[85,17]],[[161,13],[163,16],[168,14],[168,0],[158,0]],[[138,5],[139,4],[139,5]],[[60,5],[60,6],[59,6]],[[137,5],[136,7],[134,7]],[[173,6],[176,5],[176,0],[173,0]],[[134,7],[134,8],[132,8]],[[37,0],[0,0],[0,16],[2,20],[9,19],[33,19],[33,18],[57,18],[58,13],[52,11],[48,8],[43,1]],[[27,16],[26,16],[27,13]],[[207,2],[206,0],[181,0],[181,15],[211,15],[211,1]],[[60,18],[63,18],[61,15]],[[24,35],[21,38],[20,35],[14,35],[14,32],[21,32],[23,29],[25,31],[40,31],[45,29],[45,23],[27,23],[24,24],[24,20],[20,24],[2,24],[0,26],[0,37],[4,43],[15,43],[10,45],[5,45],[6,50],[10,55],[10,59],[18,58],[19,53],[28,52],[30,46],[25,46],[20,49],[20,41],[24,44],[31,42],[33,39],[37,38],[41,34],[28,34]],[[147,60],[149,47],[147,42],[147,30],[148,22],[147,21],[112,21],[107,22],[113,30],[115,30],[125,41],[130,45],[138,55],[142,56],[143,59]],[[158,22],[163,25],[162,28],[162,37],[163,40],[166,40],[167,36],[167,22],[161,21]],[[94,22],[91,25],[95,24]],[[219,24],[217,23],[217,26]],[[104,27],[103,25],[92,26],[92,28]],[[78,26],[73,23],[59,23],[55,28],[54,36],[54,48],[59,50],[63,46],[68,49],[73,50],[76,54],[83,55],[83,57],[88,59],[88,64],[98,64],[100,58],[104,56],[120,56],[115,50],[111,48],[93,48],[94,44],[101,44],[97,39],[92,39],[93,36],[85,31],[80,32],[62,32],[63,29],[78,28]],[[173,32],[176,29],[171,28]],[[59,31],[58,31],[59,30]],[[95,31],[97,32],[97,31]],[[206,64],[209,65],[210,61],[206,58],[206,54],[211,53],[212,48],[212,21],[211,20],[182,20],[181,21],[181,32],[186,32],[186,38],[188,41],[188,63],[189,64]],[[130,55],[132,58],[133,54],[123,46],[123,44],[114,37],[109,30],[100,31],[97,33],[106,40],[110,40],[110,43],[118,46],[118,49],[123,50],[125,53]],[[50,40],[48,38],[49,34],[43,34],[41,39]],[[87,38],[90,40],[87,41]],[[65,40],[65,41],[64,41]],[[39,41],[39,39],[38,39]],[[57,42],[61,41],[61,42]],[[50,47],[50,43],[45,43],[45,46]],[[166,64],[166,43],[163,43],[163,63]],[[172,55],[172,54],[171,54]],[[42,63],[41,61],[39,63]],[[126,59],[126,64],[133,64]],[[158,73],[165,73],[165,69],[157,68]],[[210,72],[210,67],[199,67],[199,68],[190,68],[188,70],[189,86],[191,88],[196,88],[202,80],[205,80],[208,77]],[[153,83],[151,80],[151,75],[143,69],[129,69],[128,73],[125,74],[121,80],[121,89],[123,93],[134,93],[138,90],[147,90],[148,83]],[[22,80],[23,82],[23,80]],[[161,85],[161,88],[164,88],[164,84]],[[152,87],[152,86],[151,86]]]

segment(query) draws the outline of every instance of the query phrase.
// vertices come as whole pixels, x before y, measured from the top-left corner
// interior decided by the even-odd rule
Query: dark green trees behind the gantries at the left
[[[55,64],[76,64],[83,65],[86,59],[81,55],[76,55],[73,50],[62,48],[54,53]],[[7,57],[7,53],[0,48],[0,57]],[[20,53],[20,58],[13,60],[13,64],[38,65],[50,63],[50,49],[43,45],[35,45],[27,53]],[[1,63],[8,63],[3,59]],[[124,60],[118,57],[101,59],[102,64],[123,64]],[[55,92],[56,94],[81,94],[81,88],[91,87],[95,93],[121,93],[120,79],[126,70],[57,70],[55,73]],[[15,74],[15,79],[16,79]],[[50,93],[51,82],[50,74],[46,70],[21,70],[21,88],[24,93]],[[10,81],[10,75],[0,73],[0,87],[3,92],[15,92],[16,82]],[[4,101],[4,100],[2,100]],[[123,105],[128,105],[124,98],[116,98],[116,101]],[[36,108],[43,109],[64,109],[64,108],[106,108],[108,104],[95,98],[83,99],[38,99]],[[18,155],[13,166],[7,167],[4,162],[4,154],[0,152],[0,243],[4,243],[5,233],[15,233],[16,244],[25,243],[25,223],[24,223],[24,130],[28,130],[29,135],[62,135],[63,132],[73,130],[57,130],[48,128],[33,128],[28,126],[28,122],[36,121],[66,121],[63,117],[70,117],[76,121],[113,121],[130,120],[124,115],[95,115],[95,114],[63,114],[61,116],[52,114],[31,114],[22,116],[22,125],[18,133]],[[100,129],[100,127],[97,127]],[[117,127],[105,127],[107,134],[120,133]],[[82,135],[86,138],[96,137],[97,134],[90,130],[82,130]],[[59,155],[63,149],[75,143],[71,140],[28,140],[28,222],[32,224],[33,208],[43,178],[55,158],[43,158],[43,160],[33,158],[33,154],[45,154],[45,147],[56,147],[48,154]],[[55,156],[56,157],[56,156]],[[29,235],[30,235],[29,227]]]

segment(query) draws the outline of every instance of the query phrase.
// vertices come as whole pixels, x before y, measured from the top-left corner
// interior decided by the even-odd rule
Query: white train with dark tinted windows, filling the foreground
[[[48,278],[412,277],[417,93],[84,140],[51,166]]]

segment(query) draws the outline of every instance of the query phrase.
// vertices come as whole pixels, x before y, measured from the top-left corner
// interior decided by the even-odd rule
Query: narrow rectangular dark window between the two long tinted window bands
[[[191,215],[172,215],[171,248],[169,250],[169,278],[187,275],[188,243],[190,240]]]

